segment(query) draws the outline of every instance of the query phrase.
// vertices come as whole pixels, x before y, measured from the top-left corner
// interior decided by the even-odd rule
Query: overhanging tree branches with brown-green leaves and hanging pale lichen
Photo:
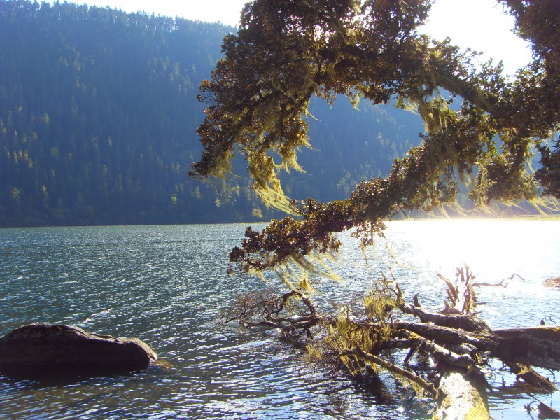
[[[559,6],[552,0],[503,3],[533,45],[533,62],[512,79],[501,64],[479,68],[475,54],[419,35],[428,0],[248,3],[237,35],[224,40],[225,58],[201,84],[204,151],[191,174],[225,176],[239,151],[265,203],[302,220],[273,221],[262,233],[247,230],[232,260],[264,269],[336,251],[332,233],[353,227],[370,244],[387,218],[453,205],[460,186],[479,207],[537,204],[541,190],[558,198],[559,150],[550,139],[560,122]],[[548,27],[540,25],[543,16]],[[419,146],[395,159],[388,176],[361,181],[349,198],[290,202],[279,172],[302,169],[297,154],[311,146],[311,99],[332,103],[338,95],[355,104],[415,109],[425,133]],[[535,148],[537,176],[528,169]]]

